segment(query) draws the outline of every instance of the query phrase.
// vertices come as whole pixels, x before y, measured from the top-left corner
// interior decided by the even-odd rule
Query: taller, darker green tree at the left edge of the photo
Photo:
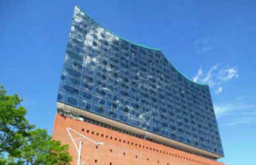
[[[20,106],[22,100],[17,94],[6,95],[0,85],[0,153],[19,156],[20,146],[28,131],[33,128],[26,120],[26,109]]]

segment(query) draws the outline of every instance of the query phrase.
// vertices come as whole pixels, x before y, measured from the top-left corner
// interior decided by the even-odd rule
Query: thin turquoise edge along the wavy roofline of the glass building
[[[74,9],[76,9],[76,8],[78,8],[78,9],[81,10],[84,14],[86,14],[86,13],[84,12],[84,10],[81,9],[81,8],[79,7],[79,5],[77,5],[77,4],[75,5]],[[89,17],[90,20],[93,20],[96,24],[98,24],[98,26],[101,26],[101,27],[103,28],[103,26],[102,26],[101,24],[99,24],[96,20],[94,20],[93,18],[91,18],[89,14],[86,14],[86,16]],[[150,50],[158,51],[158,52],[160,52],[161,54],[163,54],[162,51],[161,51],[159,48],[150,48],[150,47],[144,46],[144,45],[139,44],[139,43],[133,43],[133,42],[131,42],[130,40],[125,39],[124,37],[120,37],[119,35],[115,34],[113,31],[108,30],[107,28],[103,28],[103,29],[104,29],[105,31],[108,31],[110,34],[113,34],[113,36],[119,37],[120,39],[122,39],[122,40],[124,40],[124,41],[126,41],[126,42],[128,42],[128,43],[134,44],[134,45],[136,45],[136,46],[138,46],[138,47],[141,47],[141,48],[147,48],[147,49],[150,49]],[[165,55],[165,54],[163,54],[163,55]],[[168,60],[168,62],[170,62],[170,61]],[[170,62],[170,64],[172,65],[171,62]],[[185,79],[187,79],[190,83],[195,83],[195,84],[201,85],[201,86],[208,86],[208,84],[206,84],[206,83],[197,83],[197,82],[192,81],[189,77],[184,76],[181,71],[177,70],[177,68],[176,68],[174,65],[172,65],[172,66],[174,67],[174,69],[175,69],[179,74],[181,74],[181,75],[182,75]]]

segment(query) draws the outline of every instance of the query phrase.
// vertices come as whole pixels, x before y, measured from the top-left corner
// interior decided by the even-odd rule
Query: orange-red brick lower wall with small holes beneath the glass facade
[[[53,138],[69,145],[70,154],[73,156],[72,164],[77,164],[78,153],[67,134],[67,127],[96,142],[104,142],[104,145],[96,147],[89,140],[81,139],[79,135],[72,133],[77,145],[79,140],[83,142],[81,162],[84,162],[84,165],[224,165],[221,162],[56,114]]]

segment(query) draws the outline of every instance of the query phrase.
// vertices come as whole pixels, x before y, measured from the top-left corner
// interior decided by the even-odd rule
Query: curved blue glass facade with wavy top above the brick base
[[[224,156],[207,85],[75,7],[58,102]]]

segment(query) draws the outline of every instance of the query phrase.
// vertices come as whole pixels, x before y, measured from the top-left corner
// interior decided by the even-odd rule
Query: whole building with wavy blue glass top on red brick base
[[[79,7],[57,98],[54,139],[73,164],[223,164],[209,87],[155,48],[106,30]]]

